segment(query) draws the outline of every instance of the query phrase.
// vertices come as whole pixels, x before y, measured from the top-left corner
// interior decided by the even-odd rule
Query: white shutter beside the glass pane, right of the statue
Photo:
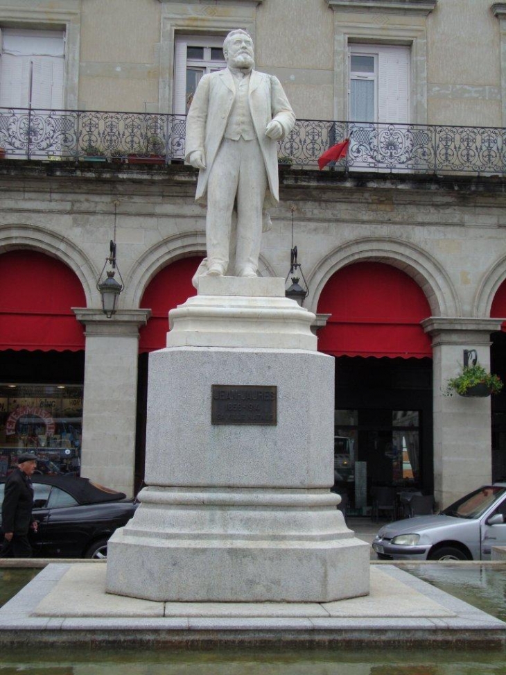
[[[408,123],[410,49],[381,46],[378,59],[378,121]]]

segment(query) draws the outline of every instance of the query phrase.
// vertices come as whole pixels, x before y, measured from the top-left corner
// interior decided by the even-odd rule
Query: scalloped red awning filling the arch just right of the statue
[[[318,349],[333,356],[432,357],[420,321],[430,316],[424,291],[387,264],[360,262],[326,283],[317,311],[331,314],[318,331]]]

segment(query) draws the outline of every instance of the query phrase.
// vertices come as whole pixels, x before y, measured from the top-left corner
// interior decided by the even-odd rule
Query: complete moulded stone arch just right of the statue
[[[306,307],[316,311],[320,293],[333,273],[368,260],[392,265],[412,277],[424,291],[432,316],[460,316],[460,300],[444,268],[418,246],[389,237],[363,237],[326,255],[308,277]]]

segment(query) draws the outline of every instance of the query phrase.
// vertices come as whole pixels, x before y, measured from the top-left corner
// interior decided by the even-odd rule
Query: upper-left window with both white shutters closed
[[[63,31],[4,29],[0,107],[63,108]]]

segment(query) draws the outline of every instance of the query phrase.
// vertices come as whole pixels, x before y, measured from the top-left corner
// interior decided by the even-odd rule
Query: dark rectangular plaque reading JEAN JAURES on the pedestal
[[[211,424],[276,425],[277,386],[211,385]]]

